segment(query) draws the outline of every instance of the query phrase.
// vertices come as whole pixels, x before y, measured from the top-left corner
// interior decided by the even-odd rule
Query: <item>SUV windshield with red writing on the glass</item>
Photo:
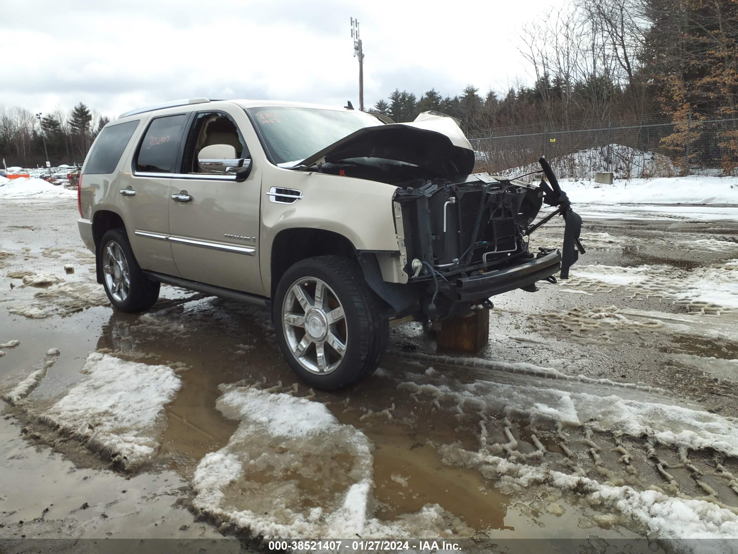
[[[283,167],[300,163],[354,131],[383,125],[370,114],[333,109],[269,107],[246,112],[254,118],[272,162]]]

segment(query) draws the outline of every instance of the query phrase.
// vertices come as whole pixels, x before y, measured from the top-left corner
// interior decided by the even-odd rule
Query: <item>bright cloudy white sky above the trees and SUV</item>
[[[358,107],[395,88],[444,95],[530,80],[520,29],[545,0],[24,0],[3,3],[0,104],[83,101],[111,117],[165,100],[267,98]]]

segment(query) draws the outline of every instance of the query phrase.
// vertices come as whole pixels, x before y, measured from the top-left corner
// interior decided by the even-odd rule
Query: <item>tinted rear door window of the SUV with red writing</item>
[[[136,171],[173,173],[187,117],[189,114],[168,115],[151,121],[139,146]]]

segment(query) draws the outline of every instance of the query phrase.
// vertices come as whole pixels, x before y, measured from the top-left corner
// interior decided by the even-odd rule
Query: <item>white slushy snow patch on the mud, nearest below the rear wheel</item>
[[[182,386],[173,369],[93,352],[80,373],[82,379],[41,414],[41,421],[125,469],[154,459],[164,408]]]

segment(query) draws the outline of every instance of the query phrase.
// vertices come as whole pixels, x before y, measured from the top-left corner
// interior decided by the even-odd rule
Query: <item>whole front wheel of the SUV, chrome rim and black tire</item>
[[[387,318],[356,261],[317,256],[285,272],[272,319],[292,370],[317,389],[370,375],[387,346]]]

